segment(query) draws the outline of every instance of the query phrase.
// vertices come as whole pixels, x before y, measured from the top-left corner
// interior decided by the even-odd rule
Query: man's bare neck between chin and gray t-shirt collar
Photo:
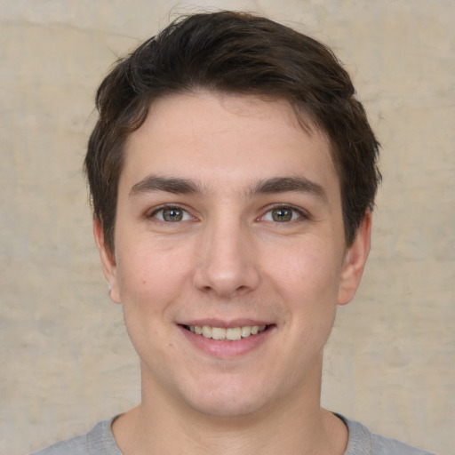
[[[320,384],[319,374],[299,394],[227,418],[182,406],[143,379],[142,402],[116,419],[113,432],[124,455],[341,455],[347,446],[347,428],[320,407]]]

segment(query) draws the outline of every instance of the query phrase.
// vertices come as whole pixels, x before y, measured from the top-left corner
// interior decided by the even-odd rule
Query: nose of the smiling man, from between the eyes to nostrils
[[[194,284],[197,289],[229,299],[256,289],[258,255],[247,227],[238,220],[212,222],[198,243]]]

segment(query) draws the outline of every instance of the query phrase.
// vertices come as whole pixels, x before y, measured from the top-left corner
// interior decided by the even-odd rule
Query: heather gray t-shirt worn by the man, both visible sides
[[[375,435],[362,424],[337,415],[349,429],[345,455],[435,455],[395,439]],[[56,443],[31,455],[123,455],[112,434],[113,420],[104,420],[84,435]]]

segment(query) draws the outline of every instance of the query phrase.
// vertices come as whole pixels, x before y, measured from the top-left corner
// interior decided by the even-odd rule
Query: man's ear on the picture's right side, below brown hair
[[[360,284],[368,253],[371,245],[371,212],[367,211],[357,229],[355,240],[348,248],[343,260],[341,279],[339,283],[338,303],[346,305],[355,296]]]

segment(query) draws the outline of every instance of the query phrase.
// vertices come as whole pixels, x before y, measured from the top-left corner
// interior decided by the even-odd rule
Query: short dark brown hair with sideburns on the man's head
[[[124,144],[165,94],[207,89],[288,100],[327,134],[339,174],[347,245],[380,181],[379,143],[347,71],[324,44],[272,20],[212,12],[175,20],[116,66],[96,95],[100,116],[85,157],[93,216],[114,251]]]

